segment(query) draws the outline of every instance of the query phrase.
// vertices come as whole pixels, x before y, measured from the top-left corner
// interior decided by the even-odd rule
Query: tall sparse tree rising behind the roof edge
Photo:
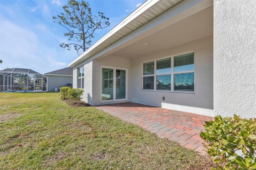
[[[61,13],[57,17],[53,16],[54,23],[57,23],[68,30],[64,36],[68,40],[76,40],[77,43],[61,43],[60,47],[76,50],[79,55],[79,50],[83,52],[88,49],[92,43],[91,38],[94,38],[95,31],[98,29],[107,28],[110,26],[109,18],[104,16],[104,13],[98,12],[98,15],[92,15],[91,8],[88,2],[77,2],[69,0],[67,5],[62,7],[65,13]]]

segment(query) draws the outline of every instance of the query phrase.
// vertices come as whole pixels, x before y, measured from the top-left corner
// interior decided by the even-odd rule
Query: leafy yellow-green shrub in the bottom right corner
[[[204,127],[205,132],[200,136],[218,169],[256,169],[256,119],[216,116]]]

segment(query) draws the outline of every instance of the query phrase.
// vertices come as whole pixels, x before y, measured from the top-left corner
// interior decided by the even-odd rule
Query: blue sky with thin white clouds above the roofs
[[[92,13],[103,12],[110,27],[96,32],[95,43],[145,0],[89,0]],[[29,68],[39,73],[62,69],[78,57],[59,46],[68,42],[52,16],[63,11],[67,0],[0,0],[0,70]]]

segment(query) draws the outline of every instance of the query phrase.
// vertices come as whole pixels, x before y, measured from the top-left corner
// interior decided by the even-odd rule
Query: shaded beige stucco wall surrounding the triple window
[[[142,63],[191,51],[194,51],[194,93],[142,91]],[[213,36],[131,59],[130,101],[134,99],[145,105],[213,116]]]

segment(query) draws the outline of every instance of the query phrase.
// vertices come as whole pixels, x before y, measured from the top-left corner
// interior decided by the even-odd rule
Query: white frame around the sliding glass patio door
[[[102,100],[102,68],[113,69],[113,99],[112,100]],[[125,70],[125,99],[116,99],[116,70]],[[126,101],[128,100],[128,69],[121,67],[110,67],[110,66],[100,66],[100,102],[111,102],[111,101]]]

